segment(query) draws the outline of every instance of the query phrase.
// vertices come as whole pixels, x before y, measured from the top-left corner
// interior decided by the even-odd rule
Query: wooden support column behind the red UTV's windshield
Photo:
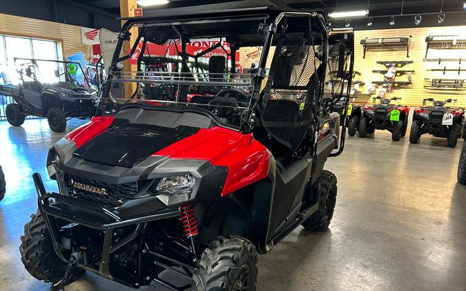
[[[137,8],[136,0],[119,0],[119,14],[121,17],[133,17],[134,8]],[[124,23],[125,21],[122,20],[122,26]],[[130,33],[131,33],[130,41],[125,41],[123,44],[123,48],[122,48],[125,54],[128,54],[131,48],[133,48],[133,44],[135,43],[135,40],[137,38],[137,28],[131,28]],[[137,65],[131,64],[129,59],[123,62],[123,66],[124,66],[123,70],[126,72],[137,71]],[[132,82],[124,83],[124,97],[126,99],[130,98],[135,92],[136,88],[137,88],[136,83],[132,83]]]

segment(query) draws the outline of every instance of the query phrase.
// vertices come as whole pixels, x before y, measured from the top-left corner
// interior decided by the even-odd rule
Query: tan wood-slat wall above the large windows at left
[[[81,42],[79,26],[0,14],[0,34],[59,41],[65,59],[76,52],[91,54],[90,46]]]

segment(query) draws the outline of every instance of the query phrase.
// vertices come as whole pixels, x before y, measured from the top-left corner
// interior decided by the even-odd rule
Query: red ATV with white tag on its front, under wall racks
[[[409,132],[409,142],[417,143],[423,134],[432,134],[434,137],[447,138],[450,148],[456,147],[458,137],[461,136],[463,127],[463,115],[465,110],[457,107],[447,107],[448,103],[456,102],[456,99],[436,101],[432,98],[424,99],[432,102],[434,106],[414,109],[413,123]]]

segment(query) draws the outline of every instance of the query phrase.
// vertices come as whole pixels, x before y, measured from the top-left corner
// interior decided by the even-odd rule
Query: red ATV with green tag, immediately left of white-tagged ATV
[[[376,99],[380,100],[379,104],[364,106],[359,123],[359,137],[367,137],[367,134],[373,134],[376,130],[388,130],[391,132],[391,140],[399,141],[406,134],[409,107],[390,104],[391,101],[401,100],[400,97]]]

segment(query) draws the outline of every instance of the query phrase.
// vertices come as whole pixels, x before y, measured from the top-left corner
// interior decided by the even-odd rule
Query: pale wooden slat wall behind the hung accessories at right
[[[449,27],[432,27],[432,28],[400,28],[400,29],[386,29],[386,30],[358,30],[355,32],[355,66],[354,69],[361,73],[361,76],[356,76],[355,79],[365,82],[365,87],[362,88],[362,93],[367,93],[367,89],[371,86],[371,81],[383,81],[383,74],[373,73],[372,70],[383,70],[385,66],[378,65],[376,61],[413,61],[413,63],[400,68],[400,70],[415,70],[411,74],[412,84],[405,88],[400,87],[394,89],[391,96],[402,97],[400,103],[409,106],[421,105],[425,98],[438,98],[438,99],[458,99],[456,105],[466,107],[466,91],[461,90],[428,90],[424,88],[429,83],[424,81],[424,78],[436,79],[466,79],[466,72],[429,72],[427,70],[434,68],[443,69],[447,68],[458,69],[459,67],[466,69],[466,61],[460,65],[456,62],[426,62],[423,61],[425,57],[425,50],[427,44],[425,38],[430,35],[463,35],[466,33],[466,26],[449,26]],[[409,37],[411,38],[411,45],[409,46],[409,58],[406,57],[406,50],[385,50],[376,51],[368,50],[365,59],[362,58],[363,49],[360,45],[361,39],[368,37]],[[466,38],[466,37],[464,37]],[[463,50],[434,50],[429,49],[429,59],[438,58],[462,58],[466,59],[466,48]],[[396,81],[407,81],[407,76],[396,77]],[[360,94],[358,101],[372,102],[372,98],[367,94]]]

